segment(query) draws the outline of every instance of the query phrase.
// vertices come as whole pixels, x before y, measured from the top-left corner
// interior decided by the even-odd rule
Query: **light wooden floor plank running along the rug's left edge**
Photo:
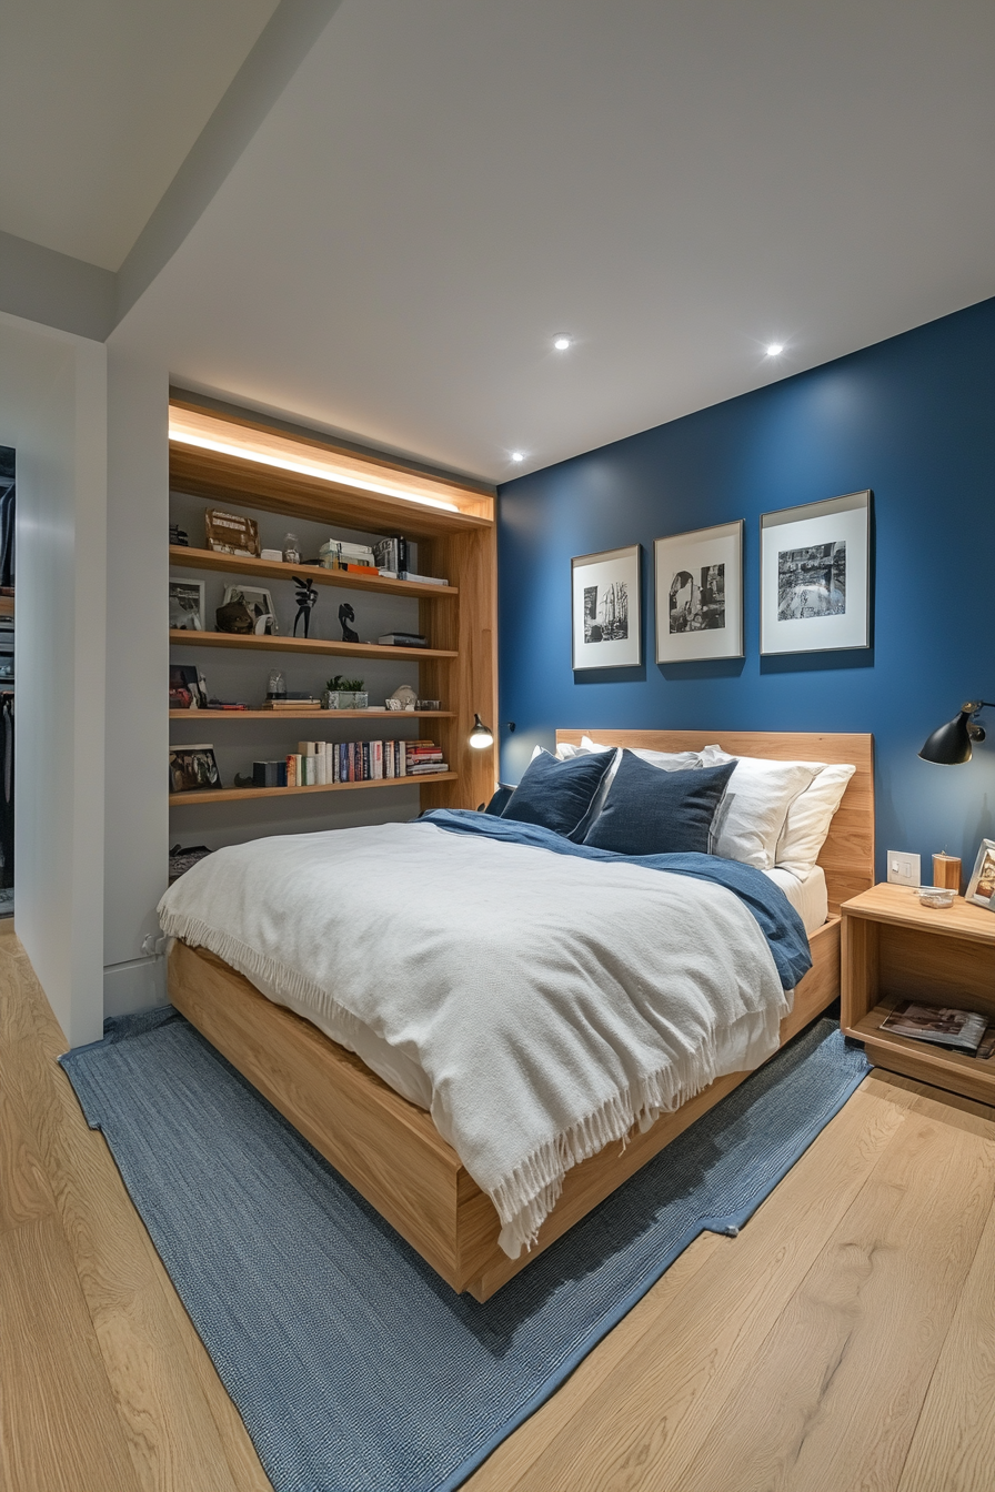
[[[52,1183],[143,1492],[267,1492],[103,1135],[87,1126],[66,1074],[37,1041],[16,1052],[12,1094]]]

